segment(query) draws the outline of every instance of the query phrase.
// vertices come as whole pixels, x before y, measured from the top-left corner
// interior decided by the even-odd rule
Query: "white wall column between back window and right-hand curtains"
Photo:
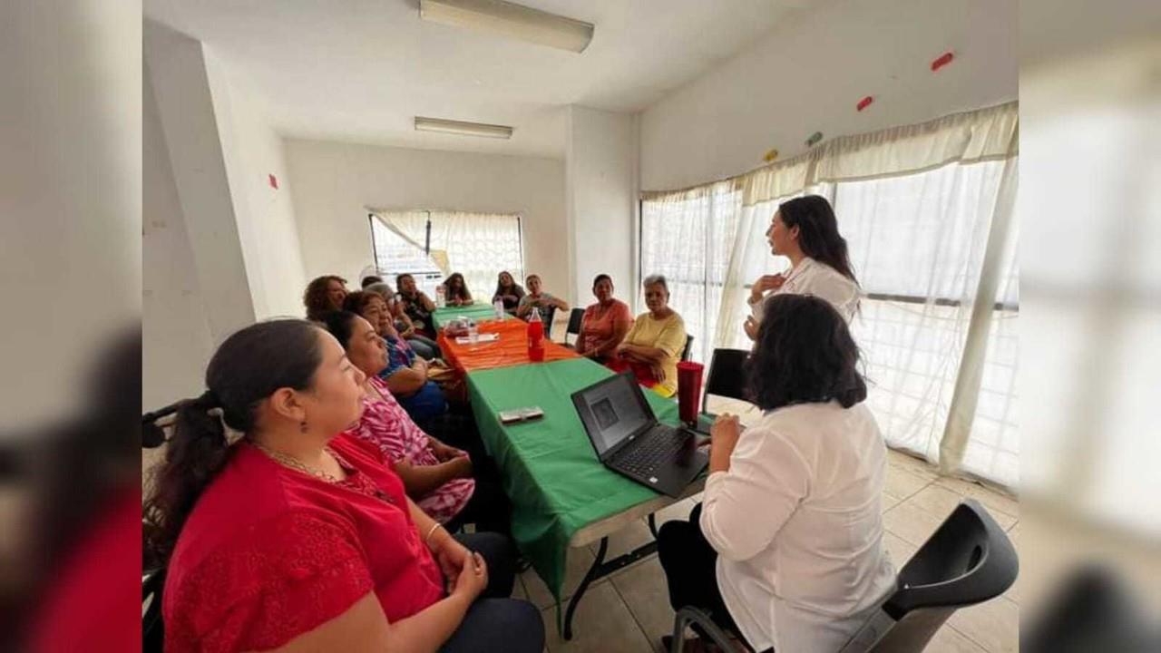
[[[568,113],[565,202],[574,306],[593,301],[592,278],[613,278],[633,296],[637,134],[632,114],[571,106]]]

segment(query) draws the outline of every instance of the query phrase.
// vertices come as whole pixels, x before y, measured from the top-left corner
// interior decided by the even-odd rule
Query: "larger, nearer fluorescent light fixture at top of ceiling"
[[[593,31],[592,23],[503,0],[419,0],[419,17],[572,52],[583,52]]]

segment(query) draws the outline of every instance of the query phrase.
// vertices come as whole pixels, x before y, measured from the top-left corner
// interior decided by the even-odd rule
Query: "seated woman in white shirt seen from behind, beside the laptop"
[[[886,446],[858,347],[819,297],[780,294],[747,363],[765,414],[712,430],[709,478],[657,554],[673,609],[695,605],[755,651],[832,653],[895,588],[882,546]]]

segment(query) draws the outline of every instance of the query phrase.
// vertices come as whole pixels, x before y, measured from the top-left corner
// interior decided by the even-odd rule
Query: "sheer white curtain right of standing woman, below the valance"
[[[1015,367],[1015,349],[994,351],[988,366],[988,387],[1004,392],[981,394],[991,324],[973,328],[973,316],[1008,324],[1016,315],[1015,302],[1001,302],[1011,310],[997,311],[995,295],[979,297],[996,202],[1014,166],[1015,159],[949,165],[836,188],[865,293],[852,331],[866,357],[870,406],[888,440],[949,472],[969,461],[965,469],[1004,485],[1018,480],[1008,422],[1014,387],[1000,379],[1004,365]],[[988,429],[976,419],[980,409]],[[1005,432],[996,432],[1000,426]]]

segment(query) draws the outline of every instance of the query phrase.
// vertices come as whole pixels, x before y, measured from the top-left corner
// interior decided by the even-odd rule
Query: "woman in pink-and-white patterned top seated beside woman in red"
[[[362,417],[347,432],[378,447],[395,464],[408,495],[449,530],[475,523],[479,531],[506,533],[507,496],[498,479],[481,474],[490,460],[474,460],[468,452],[428,436],[411,419],[378,378],[387,366],[387,349],[370,323],[347,311],[327,314],[323,323],[346,349],[351,363],[367,375]]]

